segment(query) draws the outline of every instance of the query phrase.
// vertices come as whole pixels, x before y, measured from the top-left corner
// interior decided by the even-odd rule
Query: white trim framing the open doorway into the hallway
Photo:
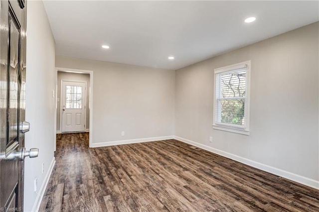
[[[89,129],[89,147],[92,147],[92,143],[93,143],[93,136],[92,136],[92,132],[93,132],[93,71],[92,70],[82,70],[82,69],[69,69],[69,68],[61,68],[61,67],[55,67],[56,70],[56,75],[55,75],[55,82],[56,82],[56,92],[57,92],[57,76],[58,76],[58,71],[60,72],[71,72],[71,73],[84,73],[84,74],[89,74],[90,75],[90,87],[87,88],[89,89],[89,93],[90,93],[90,101],[89,101],[89,110],[90,110],[90,129]],[[55,93],[56,93],[55,92]],[[55,115],[54,115],[54,119],[55,119],[55,131],[56,131],[56,115],[57,115],[57,99],[56,99],[55,95]],[[61,98],[60,98],[61,99]],[[54,151],[56,151],[56,136],[54,138]]]

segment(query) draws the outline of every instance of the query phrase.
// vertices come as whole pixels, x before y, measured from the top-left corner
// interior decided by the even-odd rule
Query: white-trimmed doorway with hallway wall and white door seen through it
[[[91,147],[93,71],[68,68],[56,71],[56,133],[89,132]]]

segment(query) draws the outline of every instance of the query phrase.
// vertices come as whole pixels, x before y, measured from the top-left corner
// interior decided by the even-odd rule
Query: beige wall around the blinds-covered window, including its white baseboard
[[[317,22],[176,70],[175,135],[319,188],[318,39]],[[213,70],[247,60],[250,135],[212,129]]]

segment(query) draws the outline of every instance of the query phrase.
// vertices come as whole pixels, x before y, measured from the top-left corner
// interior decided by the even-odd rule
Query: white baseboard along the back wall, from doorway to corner
[[[114,146],[114,145],[121,145],[121,144],[130,144],[130,143],[143,143],[143,142],[149,142],[149,141],[160,141],[160,140],[167,140],[167,139],[173,139],[173,138],[174,136],[170,135],[170,136],[161,136],[161,137],[152,137],[152,138],[139,138],[139,139],[131,139],[131,140],[91,143],[90,148],[102,147],[102,146]]]

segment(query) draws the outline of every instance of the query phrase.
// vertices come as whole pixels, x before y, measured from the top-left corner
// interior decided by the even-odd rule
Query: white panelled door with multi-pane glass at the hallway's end
[[[61,81],[62,132],[85,131],[86,82]]]

